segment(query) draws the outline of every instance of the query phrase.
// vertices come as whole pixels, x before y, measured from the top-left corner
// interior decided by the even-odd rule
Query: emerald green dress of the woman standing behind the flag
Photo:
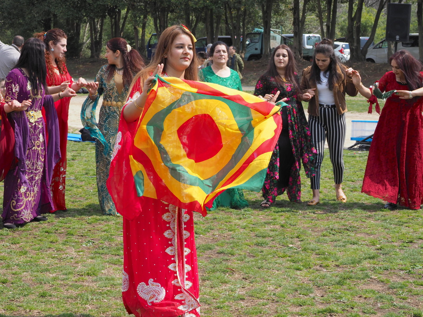
[[[239,79],[238,73],[233,69],[231,69],[229,77],[220,77],[214,74],[211,66],[207,66],[198,72],[198,77],[201,82],[211,82],[213,84],[242,91],[241,79]],[[222,194],[214,199],[213,207],[209,210],[214,210],[217,207],[222,206],[241,209],[248,207],[248,202],[244,199],[244,192],[242,189],[230,188],[226,189]]]

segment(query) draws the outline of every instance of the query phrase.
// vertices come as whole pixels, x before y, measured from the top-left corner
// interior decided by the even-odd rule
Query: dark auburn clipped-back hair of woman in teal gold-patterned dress
[[[131,49],[128,52],[126,45],[128,45],[128,43],[124,38],[112,38],[106,44],[113,53],[116,51],[121,52],[124,60],[124,75],[122,78],[124,80],[124,86],[129,86],[134,78],[134,75],[143,69],[145,65],[144,59],[141,57],[140,53],[138,53],[136,49]],[[112,79],[113,74],[115,74],[115,69],[116,65],[109,64],[107,66],[107,80]]]

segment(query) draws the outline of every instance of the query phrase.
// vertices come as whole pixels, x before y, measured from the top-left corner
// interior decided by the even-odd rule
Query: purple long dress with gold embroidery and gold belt
[[[15,159],[4,179],[2,218],[3,222],[23,224],[52,208],[50,181],[60,158],[58,119],[52,96],[45,95],[44,89],[33,92],[22,69],[10,71],[5,90],[6,102],[32,100],[27,110],[7,115],[14,130]],[[48,145],[42,107],[47,115]]]

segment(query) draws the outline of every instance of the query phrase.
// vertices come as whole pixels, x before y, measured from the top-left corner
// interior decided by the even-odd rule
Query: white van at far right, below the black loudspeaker
[[[372,63],[388,62],[388,42],[383,39],[378,44],[369,47],[366,54],[366,61]],[[409,41],[398,42],[397,50],[406,49],[415,58],[419,59],[419,34],[410,33]]]

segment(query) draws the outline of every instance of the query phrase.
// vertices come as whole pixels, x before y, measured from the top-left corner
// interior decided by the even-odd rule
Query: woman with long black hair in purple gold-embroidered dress
[[[41,213],[52,209],[50,181],[60,159],[54,102],[76,96],[69,87],[63,92],[47,93],[44,49],[38,38],[27,39],[18,63],[6,77],[5,101],[15,102],[14,107],[0,107],[4,133],[0,143],[0,180],[4,178],[2,217],[6,228],[47,220]],[[41,115],[43,108],[46,121]]]

